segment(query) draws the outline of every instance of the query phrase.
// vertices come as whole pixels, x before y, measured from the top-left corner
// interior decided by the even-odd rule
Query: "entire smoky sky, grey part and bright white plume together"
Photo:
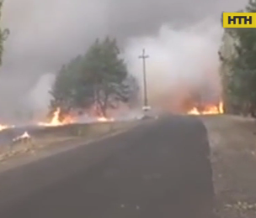
[[[131,70],[138,76],[141,62],[137,56],[142,47],[147,49],[151,56],[147,67],[152,97],[162,96],[173,84],[179,84],[177,77],[197,82],[205,71],[216,74],[221,11],[236,10],[246,2],[7,0],[3,25],[11,34],[5,44],[0,75],[0,117],[22,117],[20,113],[27,114],[37,107],[35,99],[41,99],[40,106],[45,101],[45,108],[49,103],[45,93],[30,93],[40,76],[56,73],[95,38],[106,34],[117,37],[129,57]],[[206,18],[212,21],[204,23]],[[177,28],[168,29],[169,25]],[[44,84],[47,90],[51,81]],[[30,106],[34,100],[35,106]]]

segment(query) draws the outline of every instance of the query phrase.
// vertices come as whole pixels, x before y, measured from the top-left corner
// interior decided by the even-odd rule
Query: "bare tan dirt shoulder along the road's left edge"
[[[94,141],[104,140],[120,132],[127,131],[135,127],[138,122],[119,122],[106,125],[97,124],[86,127],[86,133],[81,133],[81,129],[72,129],[72,134],[55,134],[56,130],[32,136],[26,143],[16,144],[14,148],[5,148],[0,152],[0,174],[8,169],[31,163],[41,158],[46,158],[56,153],[86,146]],[[77,131],[78,130],[78,131]],[[61,131],[58,131],[61,132]],[[49,134],[50,133],[50,134]],[[67,133],[67,132],[66,132]],[[78,133],[78,134],[77,134]]]

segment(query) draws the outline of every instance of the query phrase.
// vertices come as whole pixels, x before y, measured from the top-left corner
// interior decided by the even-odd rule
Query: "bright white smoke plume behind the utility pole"
[[[127,63],[142,86],[142,63],[138,56],[142,49],[146,49],[151,101],[177,95],[178,91],[182,91],[181,86],[211,86],[210,90],[218,96],[221,89],[217,52],[221,35],[220,23],[211,20],[183,29],[166,24],[159,29],[157,36],[130,39],[126,46]]]

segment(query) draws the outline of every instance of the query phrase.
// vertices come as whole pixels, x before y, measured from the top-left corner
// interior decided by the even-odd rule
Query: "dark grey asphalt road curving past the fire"
[[[211,218],[209,144],[164,117],[0,175],[2,218]]]

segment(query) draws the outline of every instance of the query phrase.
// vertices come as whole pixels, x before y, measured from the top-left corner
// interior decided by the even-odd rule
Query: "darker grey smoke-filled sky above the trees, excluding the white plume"
[[[197,33],[203,35],[198,39],[205,40],[205,44],[212,43],[212,35],[221,29],[221,12],[243,8],[245,3],[246,0],[5,0],[2,25],[10,29],[10,35],[0,75],[0,119],[1,114],[17,111],[24,96],[31,96],[29,91],[40,83],[41,75],[56,73],[98,37],[116,37],[132,61],[131,54],[136,55],[135,51],[141,49],[138,42],[148,48],[158,46],[156,40],[164,38],[163,29],[171,26],[175,44],[179,45],[183,44],[177,41],[179,33],[187,40],[189,28],[211,20],[213,32],[206,23],[207,33],[202,27]],[[170,32],[165,33],[172,41]],[[155,42],[148,44],[149,38]],[[45,77],[42,80],[45,83]]]

